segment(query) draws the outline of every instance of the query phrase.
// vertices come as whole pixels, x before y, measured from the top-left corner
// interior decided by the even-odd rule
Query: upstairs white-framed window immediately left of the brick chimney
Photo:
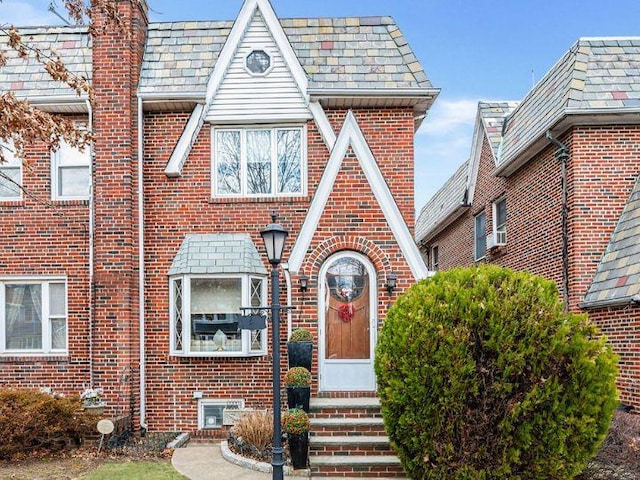
[[[52,155],[51,191],[54,200],[88,200],[91,187],[91,152],[64,140]]]

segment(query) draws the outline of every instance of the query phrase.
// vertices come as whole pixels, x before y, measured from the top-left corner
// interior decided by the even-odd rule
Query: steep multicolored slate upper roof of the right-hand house
[[[567,114],[640,110],[640,37],[582,38],[509,117],[499,167]]]

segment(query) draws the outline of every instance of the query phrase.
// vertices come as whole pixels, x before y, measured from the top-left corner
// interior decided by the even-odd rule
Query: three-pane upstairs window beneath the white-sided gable
[[[304,129],[215,129],[213,195],[293,196],[304,192]]]

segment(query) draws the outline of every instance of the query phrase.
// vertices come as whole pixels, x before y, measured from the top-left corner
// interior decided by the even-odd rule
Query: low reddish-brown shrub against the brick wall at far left
[[[95,417],[79,397],[27,388],[0,388],[0,460],[45,455],[80,444]]]

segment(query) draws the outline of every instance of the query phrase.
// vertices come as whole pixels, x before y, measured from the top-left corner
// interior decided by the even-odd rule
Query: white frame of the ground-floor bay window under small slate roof
[[[261,330],[262,347],[251,350],[251,331],[242,330],[242,351],[198,352],[191,351],[191,279],[194,278],[240,278],[242,281],[242,307],[251,305],[251,281],[259,279],[262,282],[261,306],[266,303],[267,277],[251,274],[185,274],[175,275],[169,279],[169,310],[170,310],[170,354],[178,357],[258,357],[267,354],[267,329]],[[182,280],[182,349],[176,346],[176,308],[175,282]],[[242,313],[238,311],[238,313]],[[249,312],[246,312],[249,313]]]

